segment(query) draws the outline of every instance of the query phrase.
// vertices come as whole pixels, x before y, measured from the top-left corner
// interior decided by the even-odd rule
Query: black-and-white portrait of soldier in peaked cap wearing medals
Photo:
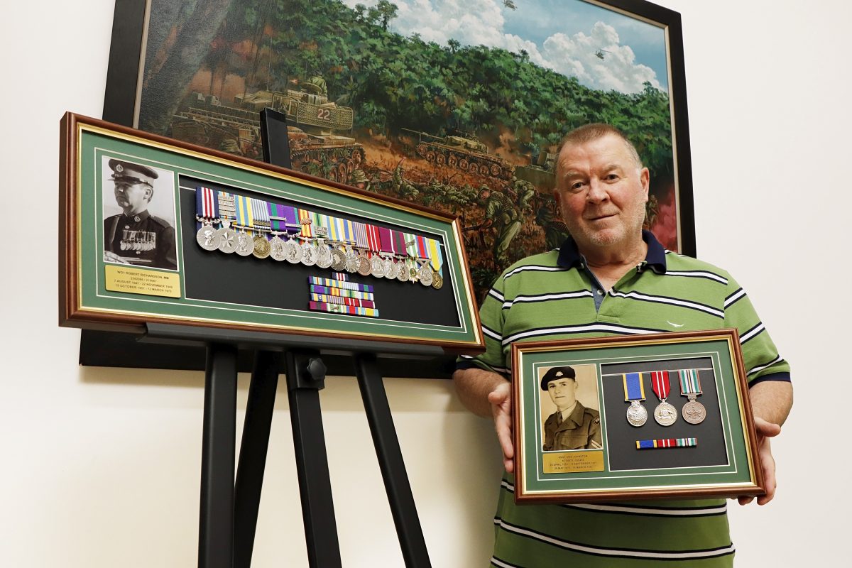
[[[117,159],[108,165],[123,212],[104,219],[104,261],[175,270],[175,229],[148,212],[157,172]]]

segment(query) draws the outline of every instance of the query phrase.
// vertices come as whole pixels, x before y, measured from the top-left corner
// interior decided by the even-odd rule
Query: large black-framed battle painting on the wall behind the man
[[[106,120],[458,215],[475,294],[567,237],[556,146],[611,123],[646,226],[694,255],[680,14],[642,0],[117,0]]]

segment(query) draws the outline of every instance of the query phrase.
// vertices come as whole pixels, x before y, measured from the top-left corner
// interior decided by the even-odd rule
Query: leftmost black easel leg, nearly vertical
[[[237,419],[237,349],[210,344],[204,378],[199,568],[233,562],[233,462]]]

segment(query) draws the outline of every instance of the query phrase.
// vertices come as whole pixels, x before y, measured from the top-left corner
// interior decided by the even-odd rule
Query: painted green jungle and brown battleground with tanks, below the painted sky
[[[533,4],[502,3],[501,17]],[[566,236],[550,195],[561,135],[612,123],[651,170],[648,227],[677,250],[665,87],[604,89],[578,78],[593,65],[573,75],[527,49],[394,31],[401,6],[153,0],[139,128],[259,158],[258,112],[285,112],[294,169],[461,215],[481,297],[511,262]],[[623,56],[617,35],[595,38],[599,25],[573,40],[590,38],[595,62]]]

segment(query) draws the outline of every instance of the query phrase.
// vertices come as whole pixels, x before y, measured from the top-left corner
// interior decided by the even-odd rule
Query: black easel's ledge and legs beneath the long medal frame
[[[285,368],[302,519],[311,568],[341,566],[319,391],[325,387],[323,351],[348,353],[376,447],[379,468],[407,568],[426,568],[429,553],[417,517],[377,352],[432,358],[440,347],[346,341],[311,336],[147,324],[140,341],[204,345],[204,439],[201,456],[199,568],[248,568],[272,424],[279,370]],[[236,457],[237,351],[255,352],[245,426]]]

